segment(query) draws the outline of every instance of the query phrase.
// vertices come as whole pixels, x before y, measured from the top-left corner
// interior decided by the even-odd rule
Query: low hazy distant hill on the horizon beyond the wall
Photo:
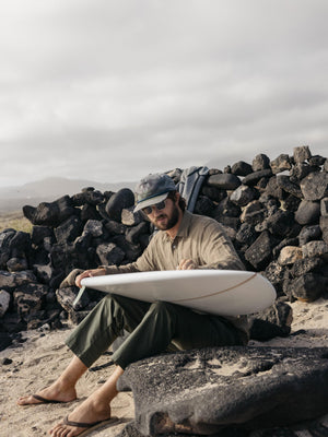
[[[20,187],[0,188],[0,212],[19,211],[25,204],[37,206],[40,202],[51,202],[62,196],[72,196],[83,188],[94,187],[96,190],[118,191],[121,188],[133,189],[136,182],[101,184],[92,180],[50,177]]]

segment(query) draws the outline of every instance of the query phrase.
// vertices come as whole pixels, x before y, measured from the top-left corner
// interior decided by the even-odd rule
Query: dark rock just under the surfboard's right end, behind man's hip
[[[268,341],[274,336],[286,336],[291,332],[292,320],[292,307],[286,303],[277,302],[266,310],[249,316],[250,339]]]

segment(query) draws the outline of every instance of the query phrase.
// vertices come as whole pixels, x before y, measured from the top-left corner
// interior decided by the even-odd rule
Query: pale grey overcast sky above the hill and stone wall
[[[0,186],[327,156],[327,0],[1,0]]]

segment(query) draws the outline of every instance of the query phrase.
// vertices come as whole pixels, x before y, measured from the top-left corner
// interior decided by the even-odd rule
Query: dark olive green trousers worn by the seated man
[[[90,367],[126,330],[130,332],[113,354],[122,369],[138,359],[167,351],[242,345],[239,331],[219,316],[156,302],[106,295],[67,339],[70,350]]]

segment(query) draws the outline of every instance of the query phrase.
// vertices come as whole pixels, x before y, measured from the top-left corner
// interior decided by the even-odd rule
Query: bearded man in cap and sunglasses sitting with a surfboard
[[[136,188],[137,205],[160,231],[143,255],[127,265],[107,265],[77,276],[116,274],[153,270],[234,269],[244,270],[231,240],[214,220],[186,211],[184,199],[167,175],[149,175]],[[110,401],[125,368],[174,345],[192,347],[243,345],[248,341],[245,317],[223,318],[157,302],[148,304],[107,295],[67,340],[74,357],[62,375],[34,395],[20,398],[19,405],[69,402],[77,398],[75,383],[86,369],[120,335],[130,332],[113,354],[116,367],[109,379],[49,433],[54,437],[79,436],[85,428],[110,417]]]

